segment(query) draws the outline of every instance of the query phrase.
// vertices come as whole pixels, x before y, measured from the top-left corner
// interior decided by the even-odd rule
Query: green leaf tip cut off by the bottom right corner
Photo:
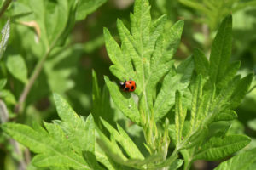
[[[224,161],[218,165],[214,170],[232,169],[232,170],[247,170],[251,169],[253,163],[256,161],[256,148],[247,150],[241,154],[232,157],[228,161]],[[253,168],[252,168],[253,169]]]

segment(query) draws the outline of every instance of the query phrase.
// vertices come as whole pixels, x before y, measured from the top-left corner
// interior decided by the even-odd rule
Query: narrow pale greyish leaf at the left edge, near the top
[[[3,29],[1,31],[2,38],[1,38],[1,42],[0,42],[0,60],[3,56],[3,53],[5,51],[5,48],[7,46],[8,40],[9,40],[9,30],[10,30],[10,26],[9,26],[9,20],[8,20],[5,24],[5,26],[3,26]]]

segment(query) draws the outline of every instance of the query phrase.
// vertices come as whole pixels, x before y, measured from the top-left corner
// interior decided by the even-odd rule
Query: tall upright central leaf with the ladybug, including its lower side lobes
[[[174,72],[176,72],[176,69],[172,68],[172,56],[177,51],[177,44],[183,30],[183,21],[178,21],[170,31],[164,32],[165,21],[165,15],[154,22],[151,21],[148,1],[143,0],[135,3],[134,14],[131,14],[131,33],[121,20],[117,22],[119,36],[122,41],[121,47],[113,40],[109,31],[104,29],[108,55],[114,64],[110,66],[110,71],[119,80],[132,78],[137,82],[135,93],[139,98],[138,107],[132,102],[133,99],[129,97],[130,94],[121,93],[114,84],[108,85],[107,79],[110,94],[125,116],[133,116],[134,118],[131,121],[143,126],[149,123],[150,116],[154,115],[158,120],[166,115],[174,104],[174,98],[168,99],[166,102],[162,102],[163,99],[175,94],[178,87],[181,90],[186,88],[191,77],[191,69],[193,69],[193,62],[188,59],[183,65],[180,65],[180,68],[177,68],[180,75],[175,77],[176,82],[171,82],[171,78],[174,77]],[[183,70],[183,68],[187,70]],[[188,75],[183,76],[183,72]],[[155,87],[160,78],[165,76],[166,73],[168,73],[165,79],[166,82],[163,83],[160,95],[155,99],[153,105]],[[173,89],[171,92],[169,91],[170,86]],[[176,87],[172,88],[172,86]],[[168,94],[166,94],[167,90]]]

